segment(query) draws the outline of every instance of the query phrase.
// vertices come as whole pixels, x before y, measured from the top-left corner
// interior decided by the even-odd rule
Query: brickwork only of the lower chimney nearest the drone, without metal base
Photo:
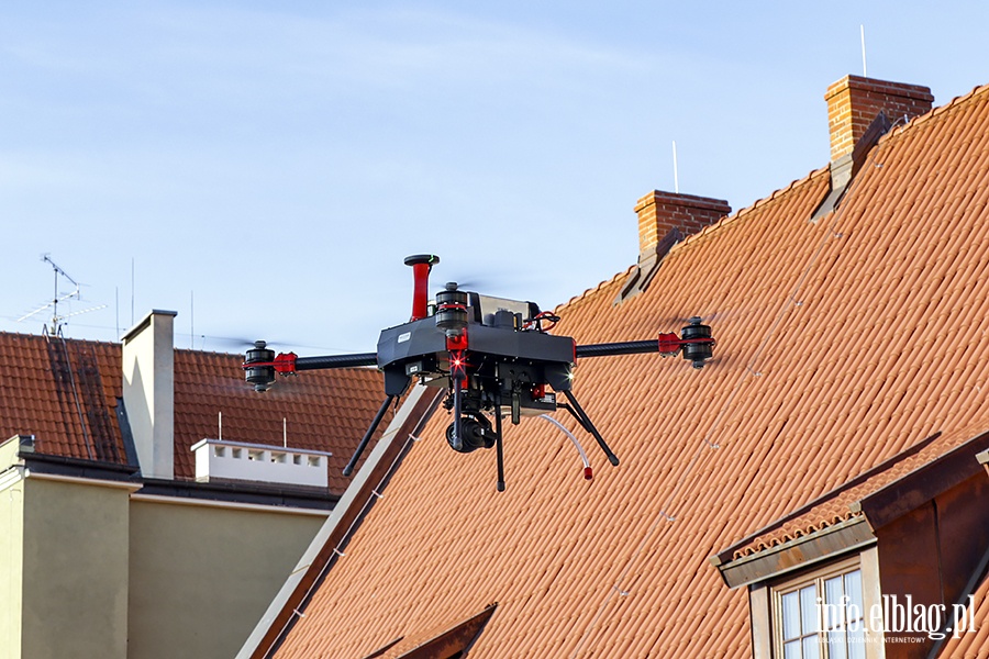
[[[638,214],[638,252],[646,255],[655,250],[673,230],[678,230],[682,239],[721,220],[732,212],[732,206],[722,199],[653,190],[636,202],[635,212]]]

